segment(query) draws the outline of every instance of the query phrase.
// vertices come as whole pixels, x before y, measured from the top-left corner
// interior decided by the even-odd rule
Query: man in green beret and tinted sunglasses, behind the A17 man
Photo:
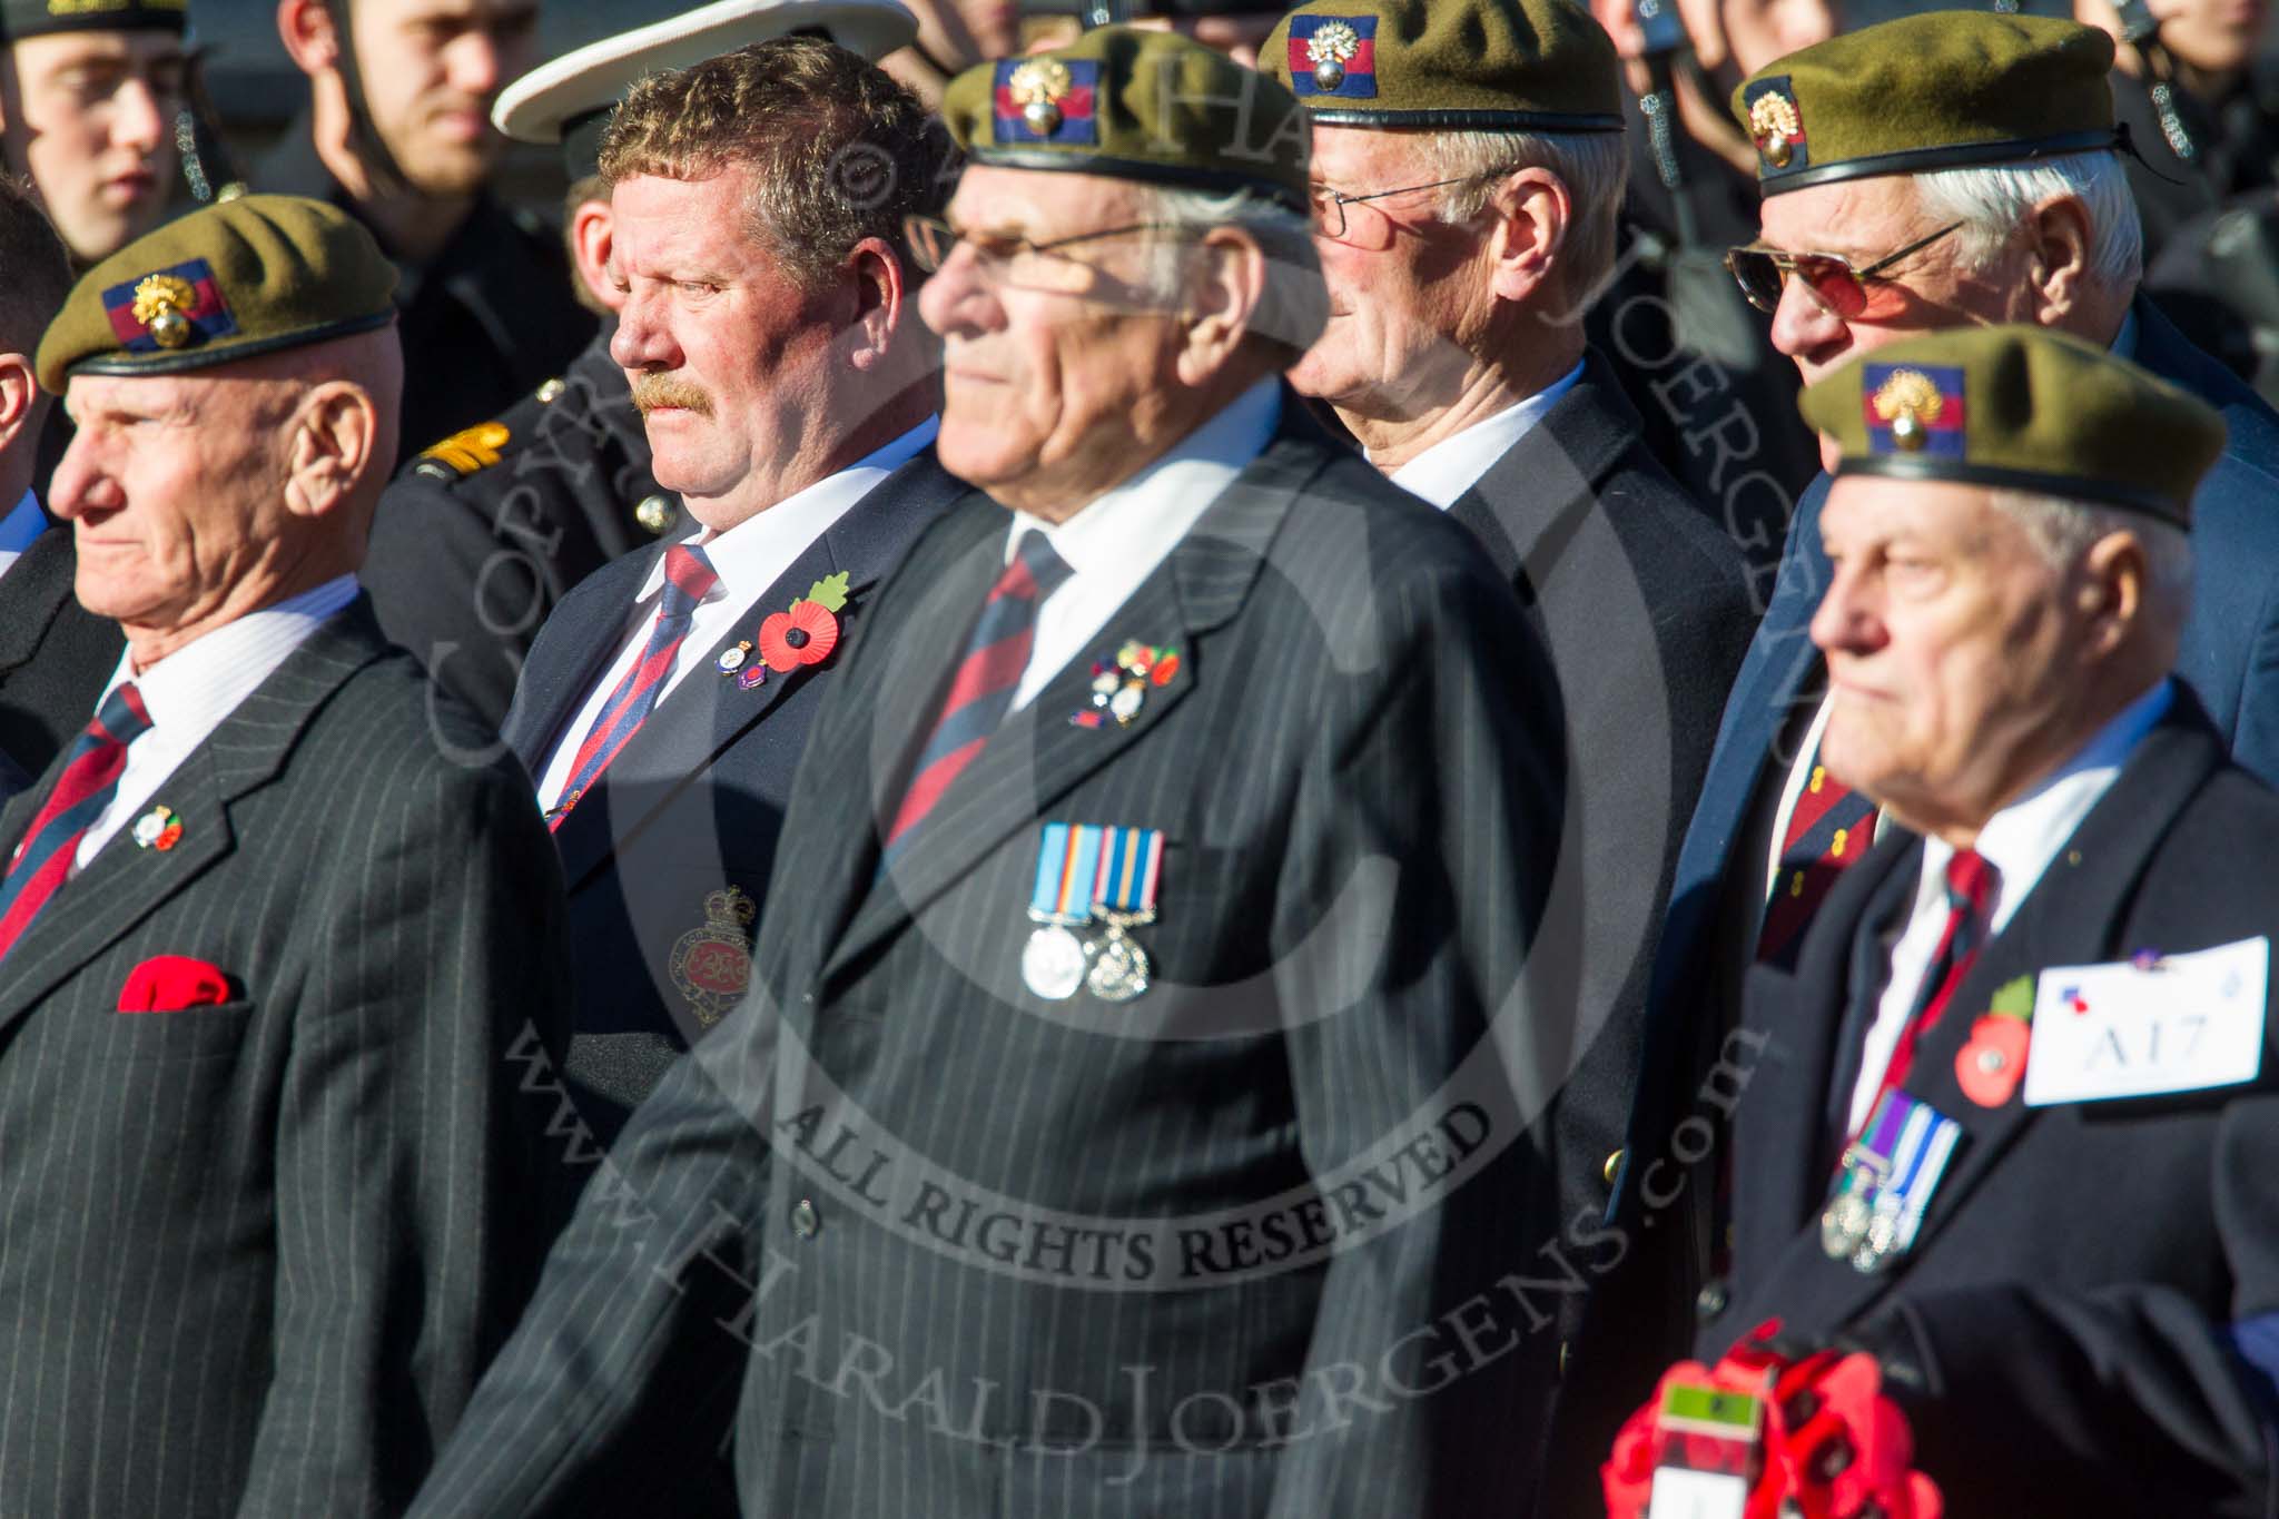
[[[1962,11],[1892,20],[1769,64],[1734,91],[1734,114],[1757,143],[1764,219],[1759,244],[1737,248],[1730,264],[1807,383],[1912,332],[2031,321],[2133,358],[2215,405],[2229,442],[2195,499],[2199,572],[2176,674],[2233,758],[2270,779],[2279,774],[2279,419],[2135,294],[2140,232],[2110,68],[2113,41],[2092,27]],[[1901,396],[1867,403],[1912,428],[1898,421]],[[1944,446],[1933,426],[1910,444]],[[1677,865],[1616,1196],[1618,1218],[1655,1221],[1655,1241],[1680,1241],[1632,1262],[1666,1268],[1648,1303],[1696,1303],[1702,1314],[1727,1296],[1723,1148],[1702,1157],[1693,1146],[1680,1164],[1673,1130],[1698,1105],[1705,1073],[1734,1057],[1743,970],[1794,959],[1816,904],[1878,822],[1869,799],[1816,758],[1825,667],[1807,626],[1830,581],[1819,540],[1825,492],[1821,476],[1798,503],[1782,581],[1734,683]],[[1616,1307],[1609,1325],[1652,1312]],[[1645,1339],[1634,1328],[1611,1335]]]

